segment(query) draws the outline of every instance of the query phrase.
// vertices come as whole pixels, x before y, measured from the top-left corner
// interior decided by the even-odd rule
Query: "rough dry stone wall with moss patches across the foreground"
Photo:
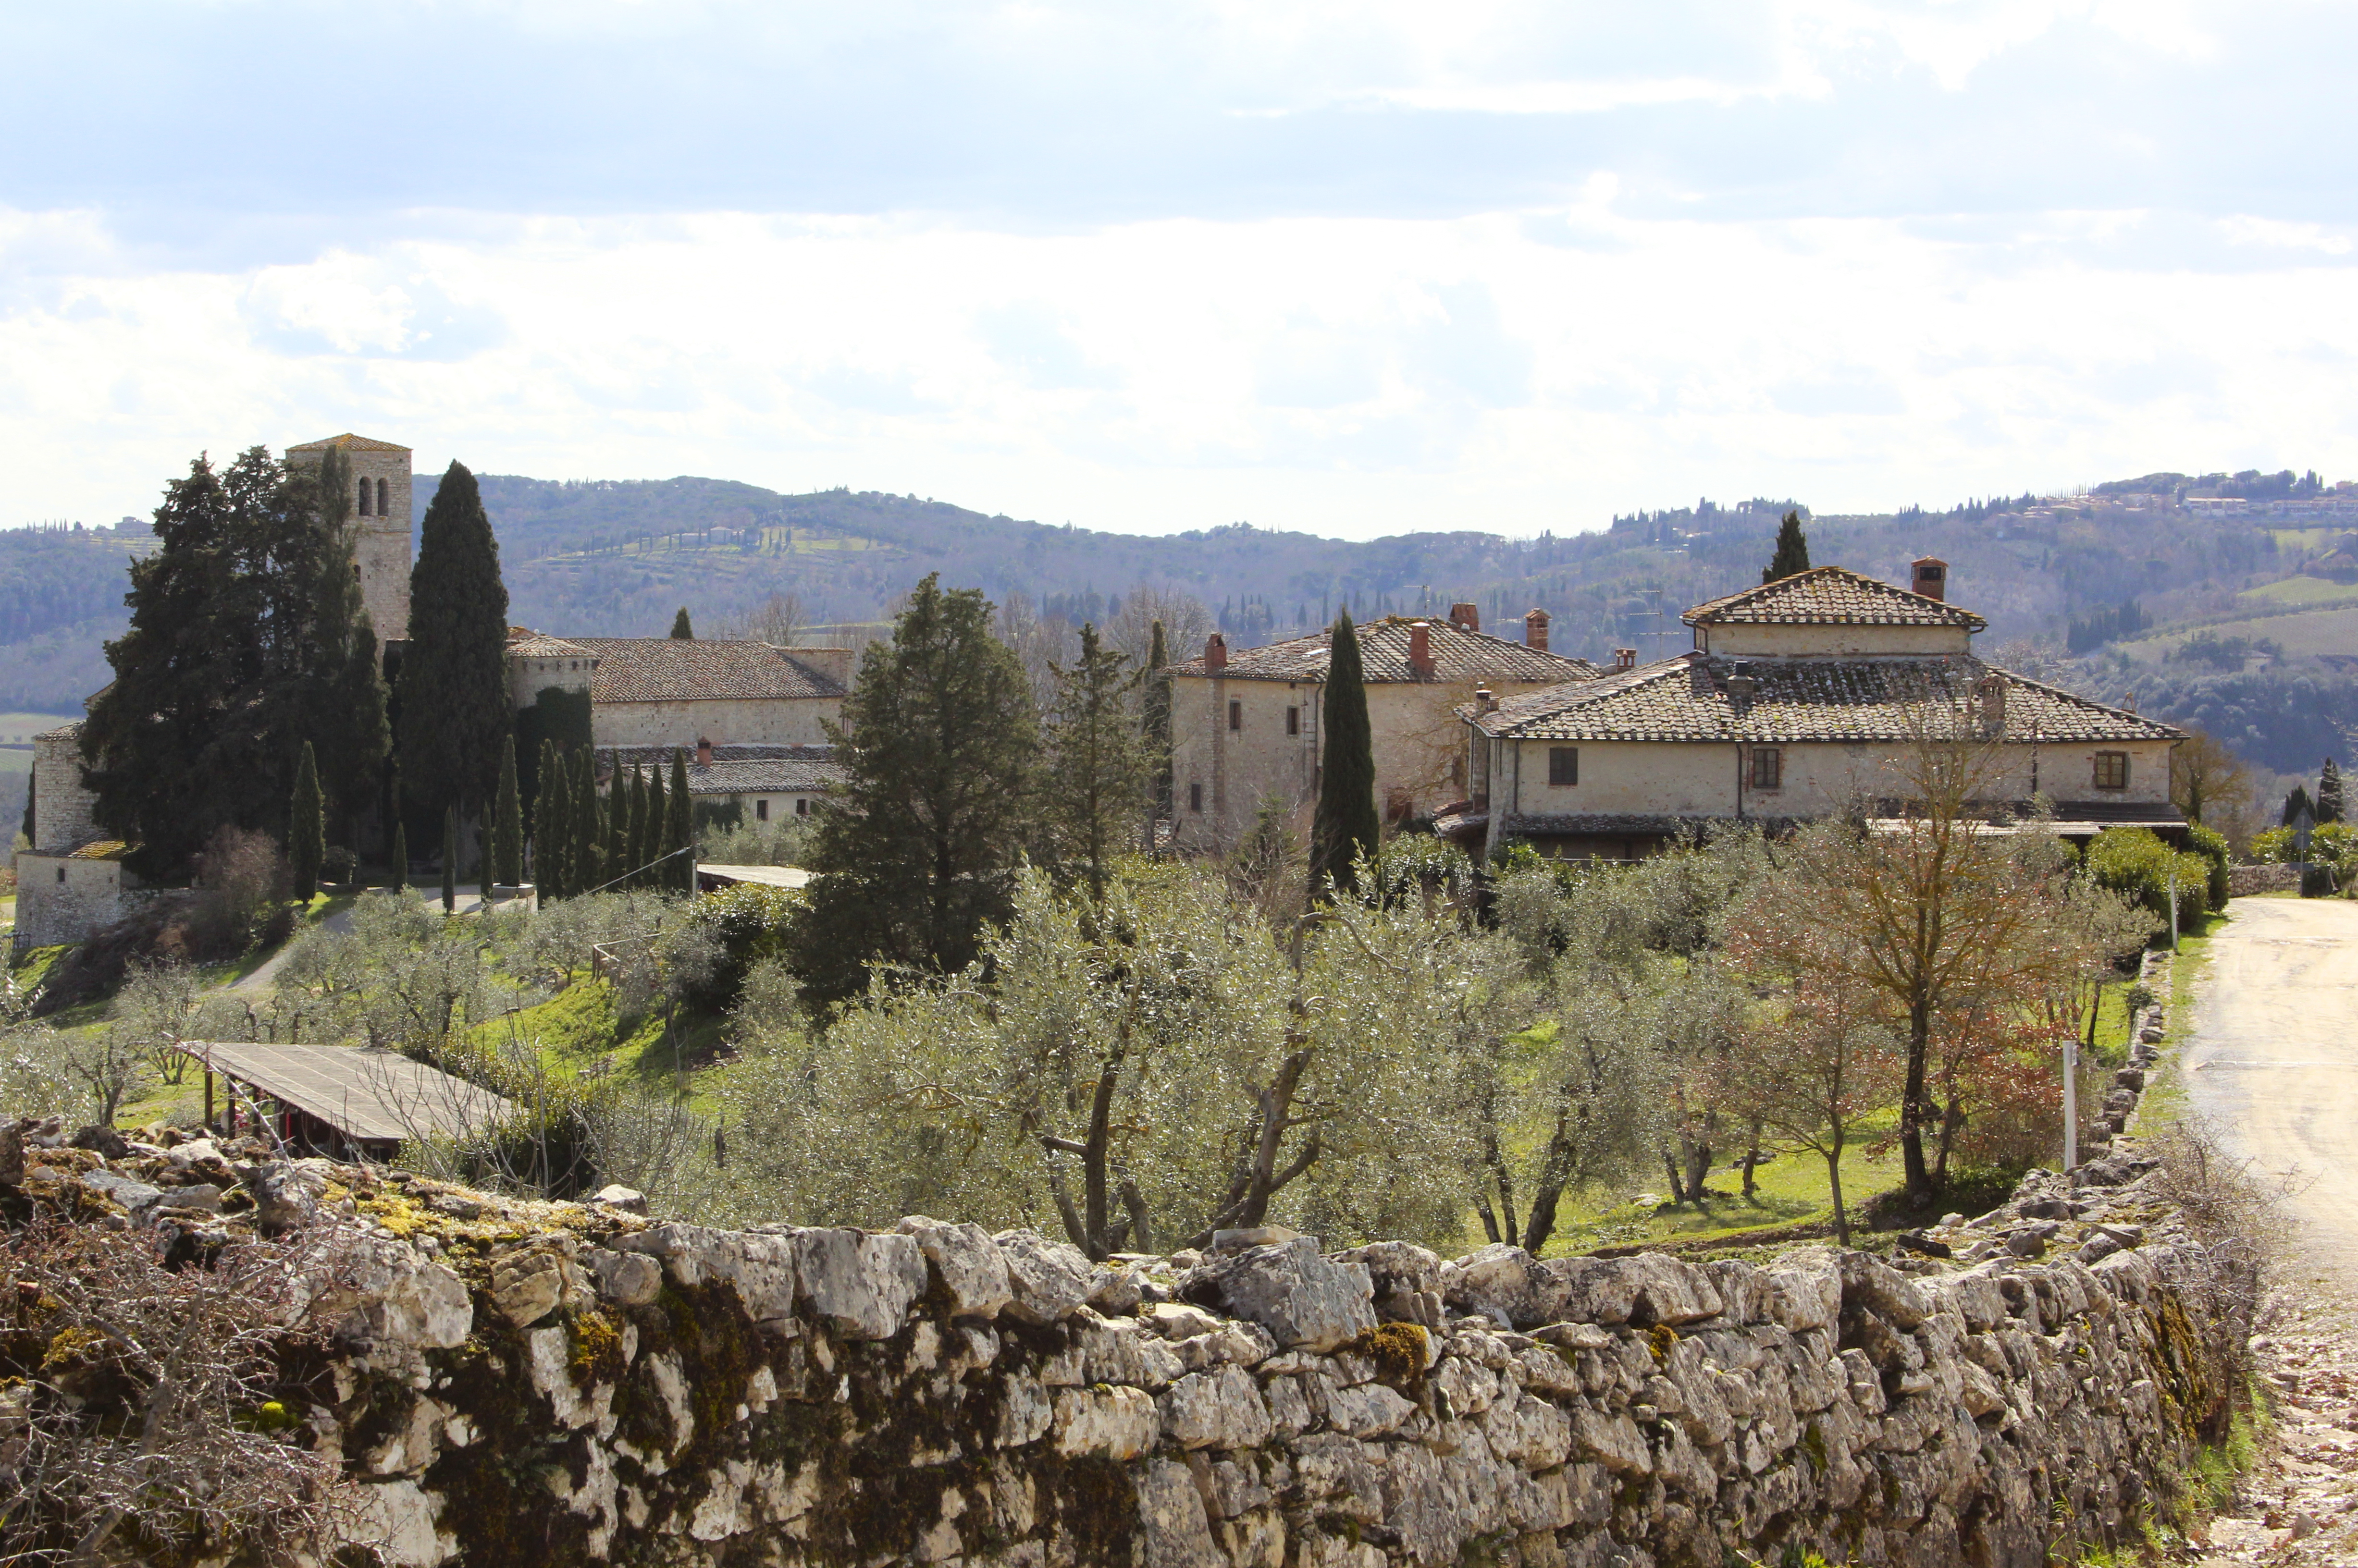
[[[31,1148],[24,1191],[184,1254],[347,1226],[351,1309],[283,1398],[417,1568],[2028,1566],[2172,1502],[2240,1335],[2129,1151],[1950,1226],[1971,1266],[1280,1231],[1089,1264],[236,1153]]]

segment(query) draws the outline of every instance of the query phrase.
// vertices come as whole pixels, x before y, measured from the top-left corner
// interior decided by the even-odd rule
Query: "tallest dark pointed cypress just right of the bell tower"
[[[474,474],[453,462],[427,507],[410,571],[401,766],[420,780],[427,804],[474,811],[498,788],[512,724],[500,545]]]

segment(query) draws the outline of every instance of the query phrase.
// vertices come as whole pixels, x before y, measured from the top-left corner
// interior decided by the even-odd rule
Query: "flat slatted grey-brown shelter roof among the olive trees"
[[[490,1089],[380,1047],[186,1040],[179,1049],[356,1141],[455,1137],[509,1111]]]

